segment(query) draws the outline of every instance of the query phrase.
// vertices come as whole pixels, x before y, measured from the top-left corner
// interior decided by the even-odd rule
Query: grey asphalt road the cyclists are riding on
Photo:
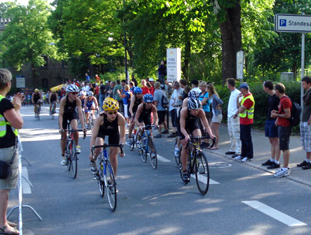
[[[37,121],[32,110],[21,109],[22,156],[32,164],[23,160],[23,167],[33,185],[23,204],[43,220],[23,209],[23,234],[311,234],[310,187],[205,151],[213,184],[202,196],[194,178],[182,183],[173,159],[175,140],[169,138],[156,139],[162,156],[156,170],[124,147],[117,209],[111,212],[88,168],[90,134],[79,140],[82,153],[73,179],[60,164],[57,117],[51,120],[44,106]],[[13,190],[9,206],[17,204]],[[17,219],[15,210],[10,220]]]

